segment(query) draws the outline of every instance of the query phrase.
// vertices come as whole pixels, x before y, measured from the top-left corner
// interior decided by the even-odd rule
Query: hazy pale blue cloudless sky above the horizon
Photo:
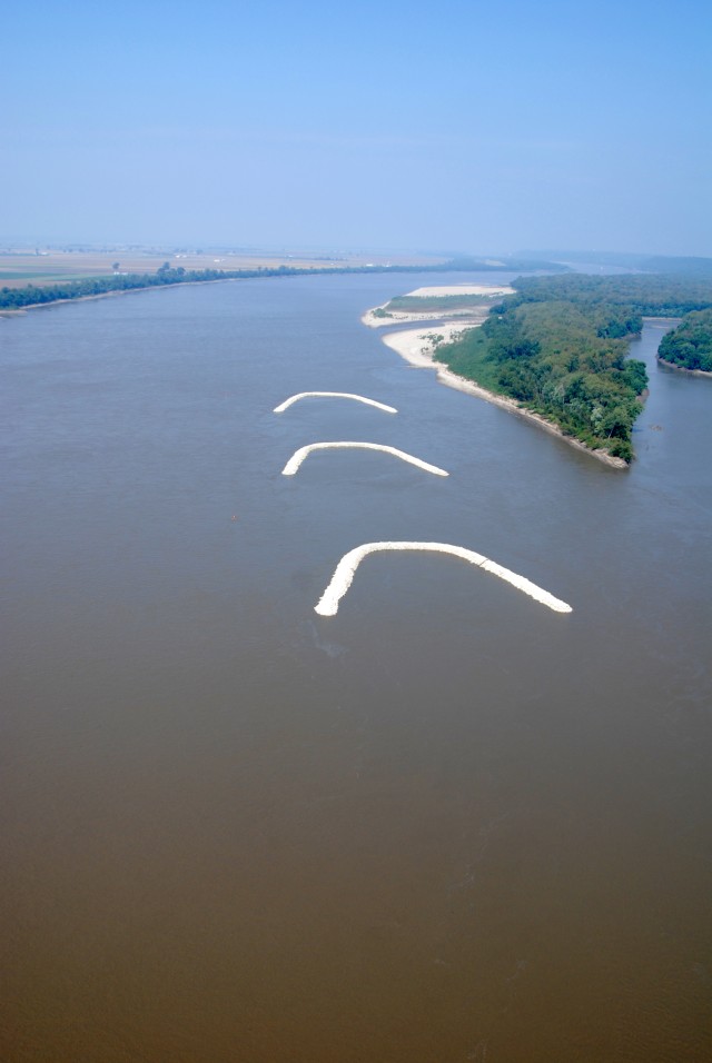
[[[711,12],[8,4],[0,242],[712,255]]]

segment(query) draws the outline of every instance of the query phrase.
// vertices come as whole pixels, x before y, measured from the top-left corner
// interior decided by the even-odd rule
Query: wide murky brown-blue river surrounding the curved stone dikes
[[[359,316],[437,275],[0,321],[0,1055],[712,1056],[712,383],[612,469]],[[502,282],[466,275],[463,281]],[[356,393],[358,403],[308,399]],[[364,440],[389,455],[299,447]],[[557,615],[457,544],[570,603]]]

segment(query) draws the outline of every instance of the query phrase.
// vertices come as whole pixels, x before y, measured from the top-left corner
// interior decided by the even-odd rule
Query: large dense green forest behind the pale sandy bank
[[[643,315],[702,316],[712,306],[712,284],[575,274],[521,277],[514,288],[481,328],[439,345],[436,359],[592,449],[630,461],[647,375],[642,361],[626,357],[629,340]]]

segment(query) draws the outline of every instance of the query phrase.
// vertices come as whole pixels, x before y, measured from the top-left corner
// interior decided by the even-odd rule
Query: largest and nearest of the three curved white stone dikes
[[[502,565],[490,560],[490,558],[484,557],[483,554],[476,554],[474,550],[465,549],[464,546],[451,546],[447,543],[411,542],[364,543],[363,546],[357,546],[355,549],[349,550],[348,554],[344,554],[336,566],[328,587],[314,607],[314,612],[318,613],[319,616],[336,616],[338,604],[350,587],[356,569],[364,557],[367,557],[368,554],[376,554],[379,550],[431,550],[438,554],[452,554],[454,557],[469,562],[478,568],[484,568],[485,572],[492,573],[493,576],[498,576],[500,579],[512,584],[517,590],[527,594],[531,598],[553,609],[554,613],[573,612],[571,606],[562,602],[561,598],[555,598],[548,590],[537,587],[536,584],[533,584],[530,579],[510,572],[508,568],[503,568]]]

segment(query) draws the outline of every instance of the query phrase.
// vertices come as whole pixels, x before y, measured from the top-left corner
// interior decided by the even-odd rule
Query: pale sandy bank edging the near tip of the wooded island
[[[540,428],[543,428],[545,431],[551,433],[551,435],[558,436],[570,446],[575,447],[577,450],[583,450],[585,454],[590,454],[592,457],[597,458],[599,461],[603,461],[605,465],[610,465],[616,469],[627,468],[627,461],[624,461],[623,458],[614,458],[605,450],[592,450],[591,447],[587,447],[578,439],[574,439],[573,436],[566,436],[561,430],[558,425],[554,425],[540,414],[535,414],[532,410],[526,409],[526,407],[521,406],[515,399],[506,398],[504,395],[496,395],[494,391],[488,391],[479,384],[475,384],[473,380],[467,380],[465,377],[458,376],[456,372],[453,372],[452,369],[446,369],[444,366],[438,365],[434,360],[433,356],[438,341],[452,342],[455,336],[458,332],[462,332],[464,329],[475,328],[478,325],[482,325],[486,316],[487,315],[485,311],[482,320],[467,324],[462,321],[449,322],[446,325],[438,325],[429,330],[424,330],[423,328],[403,329],[397,332],[386,332],[380,338],[387,347],[389,347],[392,350],[395,350],[396,354],[400,355],[402,358],[404,358],[415,368],[434,369],[436,371],[438,381],[444,384],[446,387],[455,388],[457,391],[465,391],[467,395],[474,395],[476,398],[492,403],[494,406],[498,406],[502,409],[507,410],[510,414],[515,414],[517,417],[524,418],[524,420],[532,421]],[[383,319],[379,320],[383,325]]]

